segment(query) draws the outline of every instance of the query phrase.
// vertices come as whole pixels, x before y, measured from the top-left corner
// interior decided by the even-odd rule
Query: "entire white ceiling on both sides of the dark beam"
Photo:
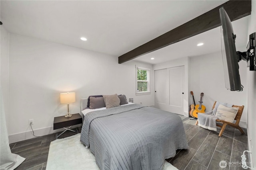
[[[119,57],[226,1],[1,0],[0,20],[10,33]],[[247,25],[248,17],[234,21],[241,45],[246,43]],[[204,45],[197,47],[198,42]],[[219,50],[220,28],[215,28],[135,60],[156,64]]]

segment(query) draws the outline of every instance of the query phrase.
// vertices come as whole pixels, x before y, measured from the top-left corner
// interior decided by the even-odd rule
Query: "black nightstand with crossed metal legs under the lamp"
[[[60,133],[60,135],[62,135],[67,130],[78,133],[78,131],[74,131],[70,129],[70,127],[72,127],[73,125],[81,124],[81,123],[83,123],[83,119],[79,113],[72,114],[72,117],[65,117],[65,116],[54,117],[53,130],[60,129],[60,128],[66,129],[65,131]],[[57,139],[60,135],[57,134]]]

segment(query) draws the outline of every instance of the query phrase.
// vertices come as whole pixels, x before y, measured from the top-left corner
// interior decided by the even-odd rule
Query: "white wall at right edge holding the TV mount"
[[[256,1],[252,0],[252,13],[249,18],[248,38],[251,33],[256,32]],[[256,71],[250,71],[247,68],[247,88],[248,88],[248,149],[250,154],[250,162],[256,169]]]

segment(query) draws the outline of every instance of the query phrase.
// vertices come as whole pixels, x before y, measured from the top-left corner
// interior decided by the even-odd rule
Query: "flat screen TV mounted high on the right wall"
[[[241,91],[239,75],[239,58],[236,55],[236,45],[232,23],[223,7],[220,8],[222,61],[226,88],[231,91]]]

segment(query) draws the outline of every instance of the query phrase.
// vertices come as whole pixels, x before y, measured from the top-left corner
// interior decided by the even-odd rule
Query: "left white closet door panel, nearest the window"
[[[168,109],[168,82],[167,69],[155,70],[155,107]]]

